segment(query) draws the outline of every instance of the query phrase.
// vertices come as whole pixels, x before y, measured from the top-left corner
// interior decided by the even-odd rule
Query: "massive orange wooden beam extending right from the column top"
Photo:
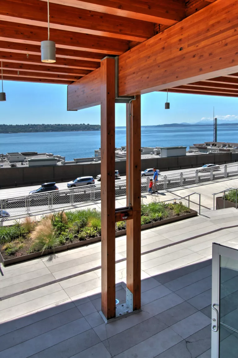
[[[238,70],[238,1],[217,0],[119,57],[119,95],[203,81]]]

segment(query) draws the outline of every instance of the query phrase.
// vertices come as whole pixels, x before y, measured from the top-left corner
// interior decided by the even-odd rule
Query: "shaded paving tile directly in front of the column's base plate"
[[[94,331],[101,339],[101,341],[104,341],[105,339],[109,339],[110,337],[113,337],[114,335],[123,332],[126,329],[144,322],[151,317],[151,314],[142,311],[128,317],[123,317],[122,319],[116,320],[109,324],[103,323],[100,326],[95,327]]]

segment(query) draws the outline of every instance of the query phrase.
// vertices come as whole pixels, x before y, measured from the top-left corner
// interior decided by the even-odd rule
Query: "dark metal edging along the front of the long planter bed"
[[[175,216],[175,217],[168,218],[168,219],[163,219],[163,220],[160,220],[160,221],[155,221],[155,222],[152,222],[152,223],[149,223],[149,224],[145,224],[145,225],[141,226],[141,229],[142,230],[150,229],[152,227],[157,227],[157,226],[169,224],[169,223],[172,223],[172,222],[175,222],[175,221],[188,219],[190,217],[197,216],[197,215],[198,215],[197,211],[194,211],[194,210],[190,209],[190,213]],[[126,233],[127,233],[127,230],[117,231],[117,232],[115,232],[115,237],[123,236]],[[80,246],[90,245],[92,243],[99,242],[99,241],[101,241],[101,236],[96,236],[96,237],[93,237],[93,238],[89,238],[87,240],[70,243],[70,244],[64,245],[64,246],[58,246],[58,247],[55,247],[54,249],[45,250],[43,252],[39,251],[39,252],[29,253],[28,255],[13,257],[13,258],[9,258],[9,259],[4,259],[2,254],[1,254],[1,252],[0,252],[0,262],[3,263],[4,267],[6,267],[6,266],[9,266],[9,265],[14,265],[15,263],[24,262],[24,261],[28,261],[28,260],[33,260],[35,258],[43,257],[43,256],[50,255],[50,254],[53,254],[53,253],[67,251],[67,250],[70,250],[70,249],[73,249],[73,248],[76,248],[76,247],[80,247]]]

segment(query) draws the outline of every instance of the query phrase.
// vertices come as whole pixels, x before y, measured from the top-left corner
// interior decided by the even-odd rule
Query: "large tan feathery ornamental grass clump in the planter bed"
[[[56,229],[48,218],[43,219],[36,226],[31,233],[31,238],[34,241],[34,247],[42,251],[54,248],[58,244]]]

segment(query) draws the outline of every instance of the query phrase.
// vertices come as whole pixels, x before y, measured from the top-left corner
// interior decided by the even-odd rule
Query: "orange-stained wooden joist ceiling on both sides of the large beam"
[[[100,67],[106,55],[121,55],[214,1],[50,0],[53,64],[40,58],[40,42],[47,39],[47,1],[1,1],[4,80],[71,84]],[[169,91],[237,95],[238,74]]]

